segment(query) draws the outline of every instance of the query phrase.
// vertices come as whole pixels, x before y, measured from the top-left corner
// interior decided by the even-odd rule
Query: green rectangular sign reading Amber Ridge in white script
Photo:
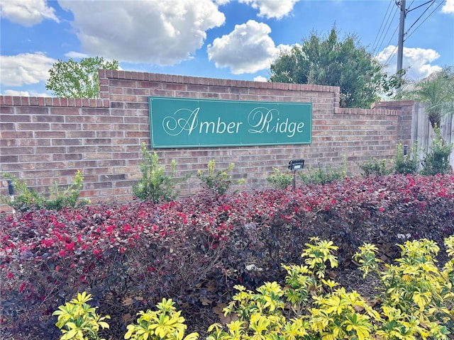
[[[151,145],[311,144],[312,104],[150,97]]]

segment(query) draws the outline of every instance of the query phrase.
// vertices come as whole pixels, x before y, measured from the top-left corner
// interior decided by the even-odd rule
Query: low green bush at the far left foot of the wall
[[[13,200],[2,198],[1,203],[5,203],[15,210],[26,211],[43,208],[48,210],[62,210],[65,207],[80,208],[90,203],[86,198],[79,200],[80,189],[84,181],[82,171],[80,170],[76,171],[74,181],[63,191],[55,182],[54,186],[49,189],[49,198],[45,198],[43,194],[37,193],[33,188],[28,188],[27,182],[23,179],[16,179],[11,174],[4,174],[4,177],[12,181],[16,195]]]

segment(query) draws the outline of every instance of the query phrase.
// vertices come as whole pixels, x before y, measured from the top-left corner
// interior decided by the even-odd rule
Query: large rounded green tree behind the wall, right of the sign
[[[312,32],[302,45],[281,52],[270,67],[270,81],[339,86],[342,107],[369,108],[393,84],[382,69],[356,35],[340,41],[333,27],[328,37]]]

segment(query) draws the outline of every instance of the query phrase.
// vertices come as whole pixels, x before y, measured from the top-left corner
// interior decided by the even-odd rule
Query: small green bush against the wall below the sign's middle
[[[216,162],[214,159],[208,162],[208,172],[205,174],[201,170],[197,172],[197,177],[204,183],[206,188],[212,191],[215,195],[224,195],[227,193],[228,188],[232,184],[240,184],[243,183],[243,179],[238,181],[233,181],[232,176],[228,175],[227,172],[231,171],[235,166],[234,163],[228,165],[226,169],[217,170],[216,169]]]

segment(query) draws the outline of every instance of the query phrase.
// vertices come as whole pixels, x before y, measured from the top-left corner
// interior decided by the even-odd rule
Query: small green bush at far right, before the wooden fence
[[[440,128],[433,128],[435,137],[432,140],[431,151],[423,160],[422,175],[435,176],[436,174],[448,174],[450,171],[449,156],[453,151],[453,145],[446,144],[441,137]]]

